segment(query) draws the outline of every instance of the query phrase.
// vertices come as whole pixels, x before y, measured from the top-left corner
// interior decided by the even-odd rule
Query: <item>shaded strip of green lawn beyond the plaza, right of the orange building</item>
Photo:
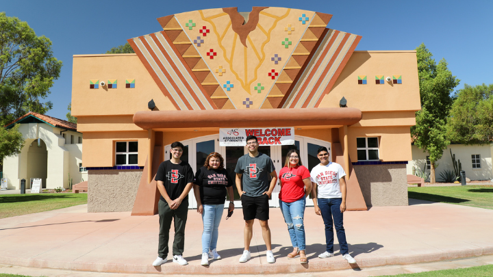
[[[493,209],[493,185],[408,187],[409,198]]]

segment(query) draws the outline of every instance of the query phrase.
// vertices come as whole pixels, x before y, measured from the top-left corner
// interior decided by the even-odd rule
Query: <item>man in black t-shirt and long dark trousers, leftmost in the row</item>
[[[190,164],[181,161],[184,145],[171,144],[171,159],[163,161],[157,169],[155,180],[161,197],[157,205],[160,216],[159,246],[154,266],[168,261],[168,240],[171,221],[175,220],[175,239],[173,241],[173,262],[187,265],[181,256],[185,246],[185,225],[188,215],[188,192],[192,189],[194,174]]]

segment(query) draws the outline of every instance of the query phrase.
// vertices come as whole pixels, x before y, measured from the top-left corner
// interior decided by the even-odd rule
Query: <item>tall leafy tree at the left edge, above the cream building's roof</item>
[[[51,40],[36,36],[27,23],[0,12],[0,124],[28,111],[45,114],[46,98],[60,76],[62,62],[53,57]]]

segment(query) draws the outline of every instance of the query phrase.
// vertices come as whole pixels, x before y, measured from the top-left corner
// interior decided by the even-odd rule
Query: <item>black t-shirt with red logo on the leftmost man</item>
[[[162,181],[169,198],[175,200],[181,195],[188,183],[193,183],[192,167],[186,161],[181,161],[179,164],[172,163],[170,160],[163,161],[157,169],[155,180]],[[160,199],[166,201],[162,196]],[[184,198],[184,200],[186,199],[188,199],[188,195]]]

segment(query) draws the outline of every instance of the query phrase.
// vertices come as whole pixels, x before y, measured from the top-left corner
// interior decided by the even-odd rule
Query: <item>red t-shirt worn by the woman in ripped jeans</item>
[[[294,168],[283,167],[279,172],[279,180],[281,181],[279,199],[287,203],[300,200],[305,195],[305,183],[303,183],[303,179],[309,177],[309,171],[304,166],[296,166]]]

